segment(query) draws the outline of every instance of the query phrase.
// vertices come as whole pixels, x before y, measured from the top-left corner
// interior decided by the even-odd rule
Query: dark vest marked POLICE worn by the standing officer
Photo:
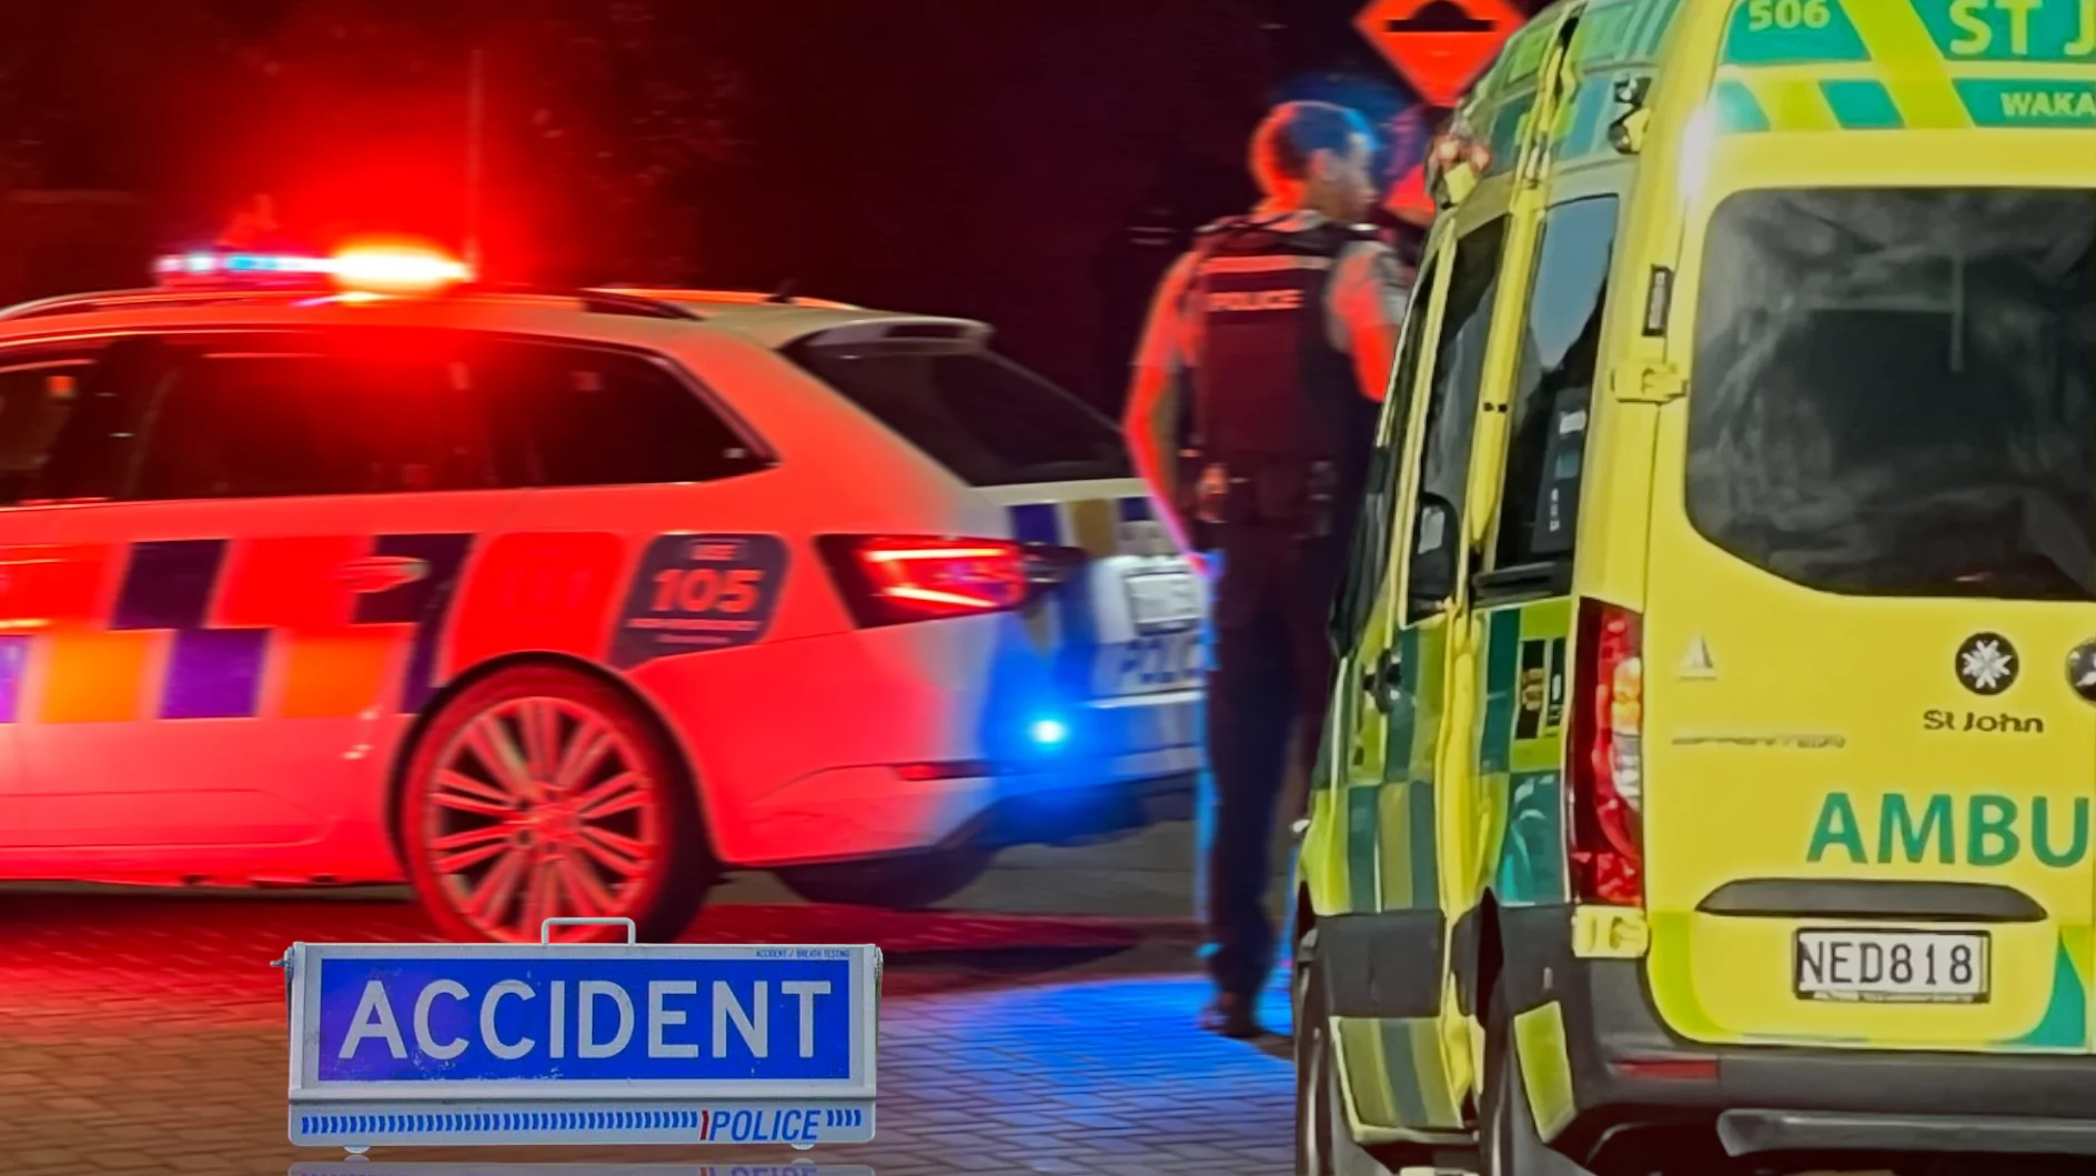
[[[1377,405],[1362,396],[1354,358],[1331,344],[1325,291],[1339,254],[1371,239],[1331,222],[1287,233],[1239,218],[1201,231],[1188,283],[1201,314],[1193,365],[1201,465],[1287,488],[1329,463],[1341,511],[1360,499]]]

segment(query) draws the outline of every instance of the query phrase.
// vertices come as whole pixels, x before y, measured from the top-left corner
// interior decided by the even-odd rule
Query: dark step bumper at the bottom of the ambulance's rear
[[[2096,1121],[2010,1115],[1842,1115],[1828,1111],[1725,1111],[1725,1153],[1767,1151],[1960,1151],[2096,1155]]]

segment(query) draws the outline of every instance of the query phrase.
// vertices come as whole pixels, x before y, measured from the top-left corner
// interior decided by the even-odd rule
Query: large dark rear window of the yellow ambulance
[[[1687,509],[1857,595],[2096,600],[2096,193],[1815,189],[1712,218]]]

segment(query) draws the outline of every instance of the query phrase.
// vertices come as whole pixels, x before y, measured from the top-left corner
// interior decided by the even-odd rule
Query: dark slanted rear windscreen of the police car
[[[815,340],[788,358],[973,486],[1132,476],[1113,421],[996,352]]]

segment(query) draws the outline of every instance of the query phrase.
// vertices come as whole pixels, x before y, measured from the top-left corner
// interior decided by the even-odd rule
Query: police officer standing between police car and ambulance
[[[1201,864],[1216,1000],[1203,1025],[1230,1038],[1262,1031],[1274,811],[1289,774],[1308,778],[1316,757],[1333,673],[1325,618],[1411,285],[1360,224],[1375,203],[1371,140],[1367,119],[1329,103],[1287,103],[1260,124],[1251,170],[1266,203],[1203,228],[1165,275],[1123,421],[1159,518],[1218,576]]]

